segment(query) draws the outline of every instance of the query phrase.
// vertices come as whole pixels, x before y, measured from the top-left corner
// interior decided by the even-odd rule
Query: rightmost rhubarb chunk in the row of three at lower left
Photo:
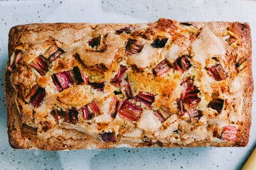
[[[95,116],[100,115],[100,108],[98,107],[98,104],[96,103],[95,100],[83,106],[81,110],[82,110],[84,120],[91,120]]]

